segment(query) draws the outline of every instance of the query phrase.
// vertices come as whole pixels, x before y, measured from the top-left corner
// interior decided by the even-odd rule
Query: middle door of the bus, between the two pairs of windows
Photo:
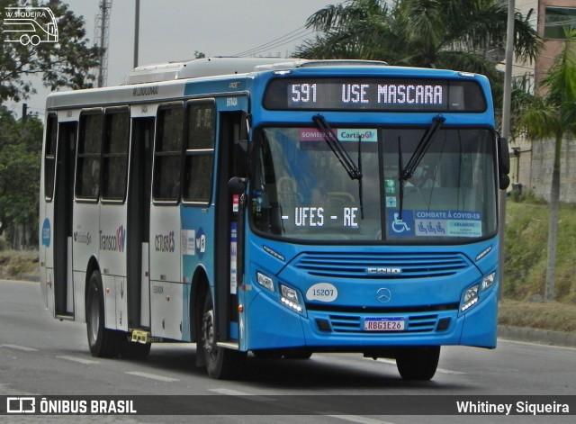
[[[154,122],[155,118],[132,119],[126,224],[129,329],[150,326],[148,246]]]

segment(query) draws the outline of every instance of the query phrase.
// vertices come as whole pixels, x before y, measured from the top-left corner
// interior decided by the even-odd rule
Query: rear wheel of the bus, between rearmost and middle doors
[[[116,357],[120,350],[121,332],[106,329],[102,276],[97,269],[90,276],[86,296],[86,331],[90,353],[96,357]]]

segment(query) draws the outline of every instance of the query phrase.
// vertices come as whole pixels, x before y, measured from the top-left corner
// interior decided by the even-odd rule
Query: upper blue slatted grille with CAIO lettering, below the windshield
[[[303,254],[294,266],[316,276],[392,279],[455,275],[469,263],[457,253],[318,253]]]

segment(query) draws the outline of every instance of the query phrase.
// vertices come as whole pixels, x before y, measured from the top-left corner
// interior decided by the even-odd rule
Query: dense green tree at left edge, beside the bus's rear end
[[[40,119],[28,116],[16,121],[10,111],[0,106],[0,234],[5,230],[14,248],[21,245],[20,239],[12,237],[16,229],[30,235],[27,240],[22,238],[25,245],[38,242],[35,229],[38,228],[41,149]]]

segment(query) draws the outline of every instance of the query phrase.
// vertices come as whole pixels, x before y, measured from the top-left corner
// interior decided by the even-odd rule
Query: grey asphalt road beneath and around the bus
[[[194,356],[194,345],[162,344],[153,345],[146,361],[94,358],[85,325],[51,319],[40,302],[38,283],[0,281],[0,399],[171,395],[151,399],[173,402],[176,410],[196,405],[189,407],[189,416],[0,415],[0,423],[572,423],[576,413],[576,349],[570,347],[507,340],[499,340],[494,350],[443,347],[437,374],[425,383],[402,381],[393,361],[349,354],[315,354],[304,361],[248,357],[242,380],[217,381],[194,366]],[[407,402],[391,395],[411,396],[410,413],[418,415],[375,415],[386,402]],[[478,404],[489,395],[498,395],[490,398],[494,404],[507,403],[508,396],[532,402],[531,395],[562,403],[562,395],[572,395],[572,415],[434,415],[437,401],[462,398]]]

